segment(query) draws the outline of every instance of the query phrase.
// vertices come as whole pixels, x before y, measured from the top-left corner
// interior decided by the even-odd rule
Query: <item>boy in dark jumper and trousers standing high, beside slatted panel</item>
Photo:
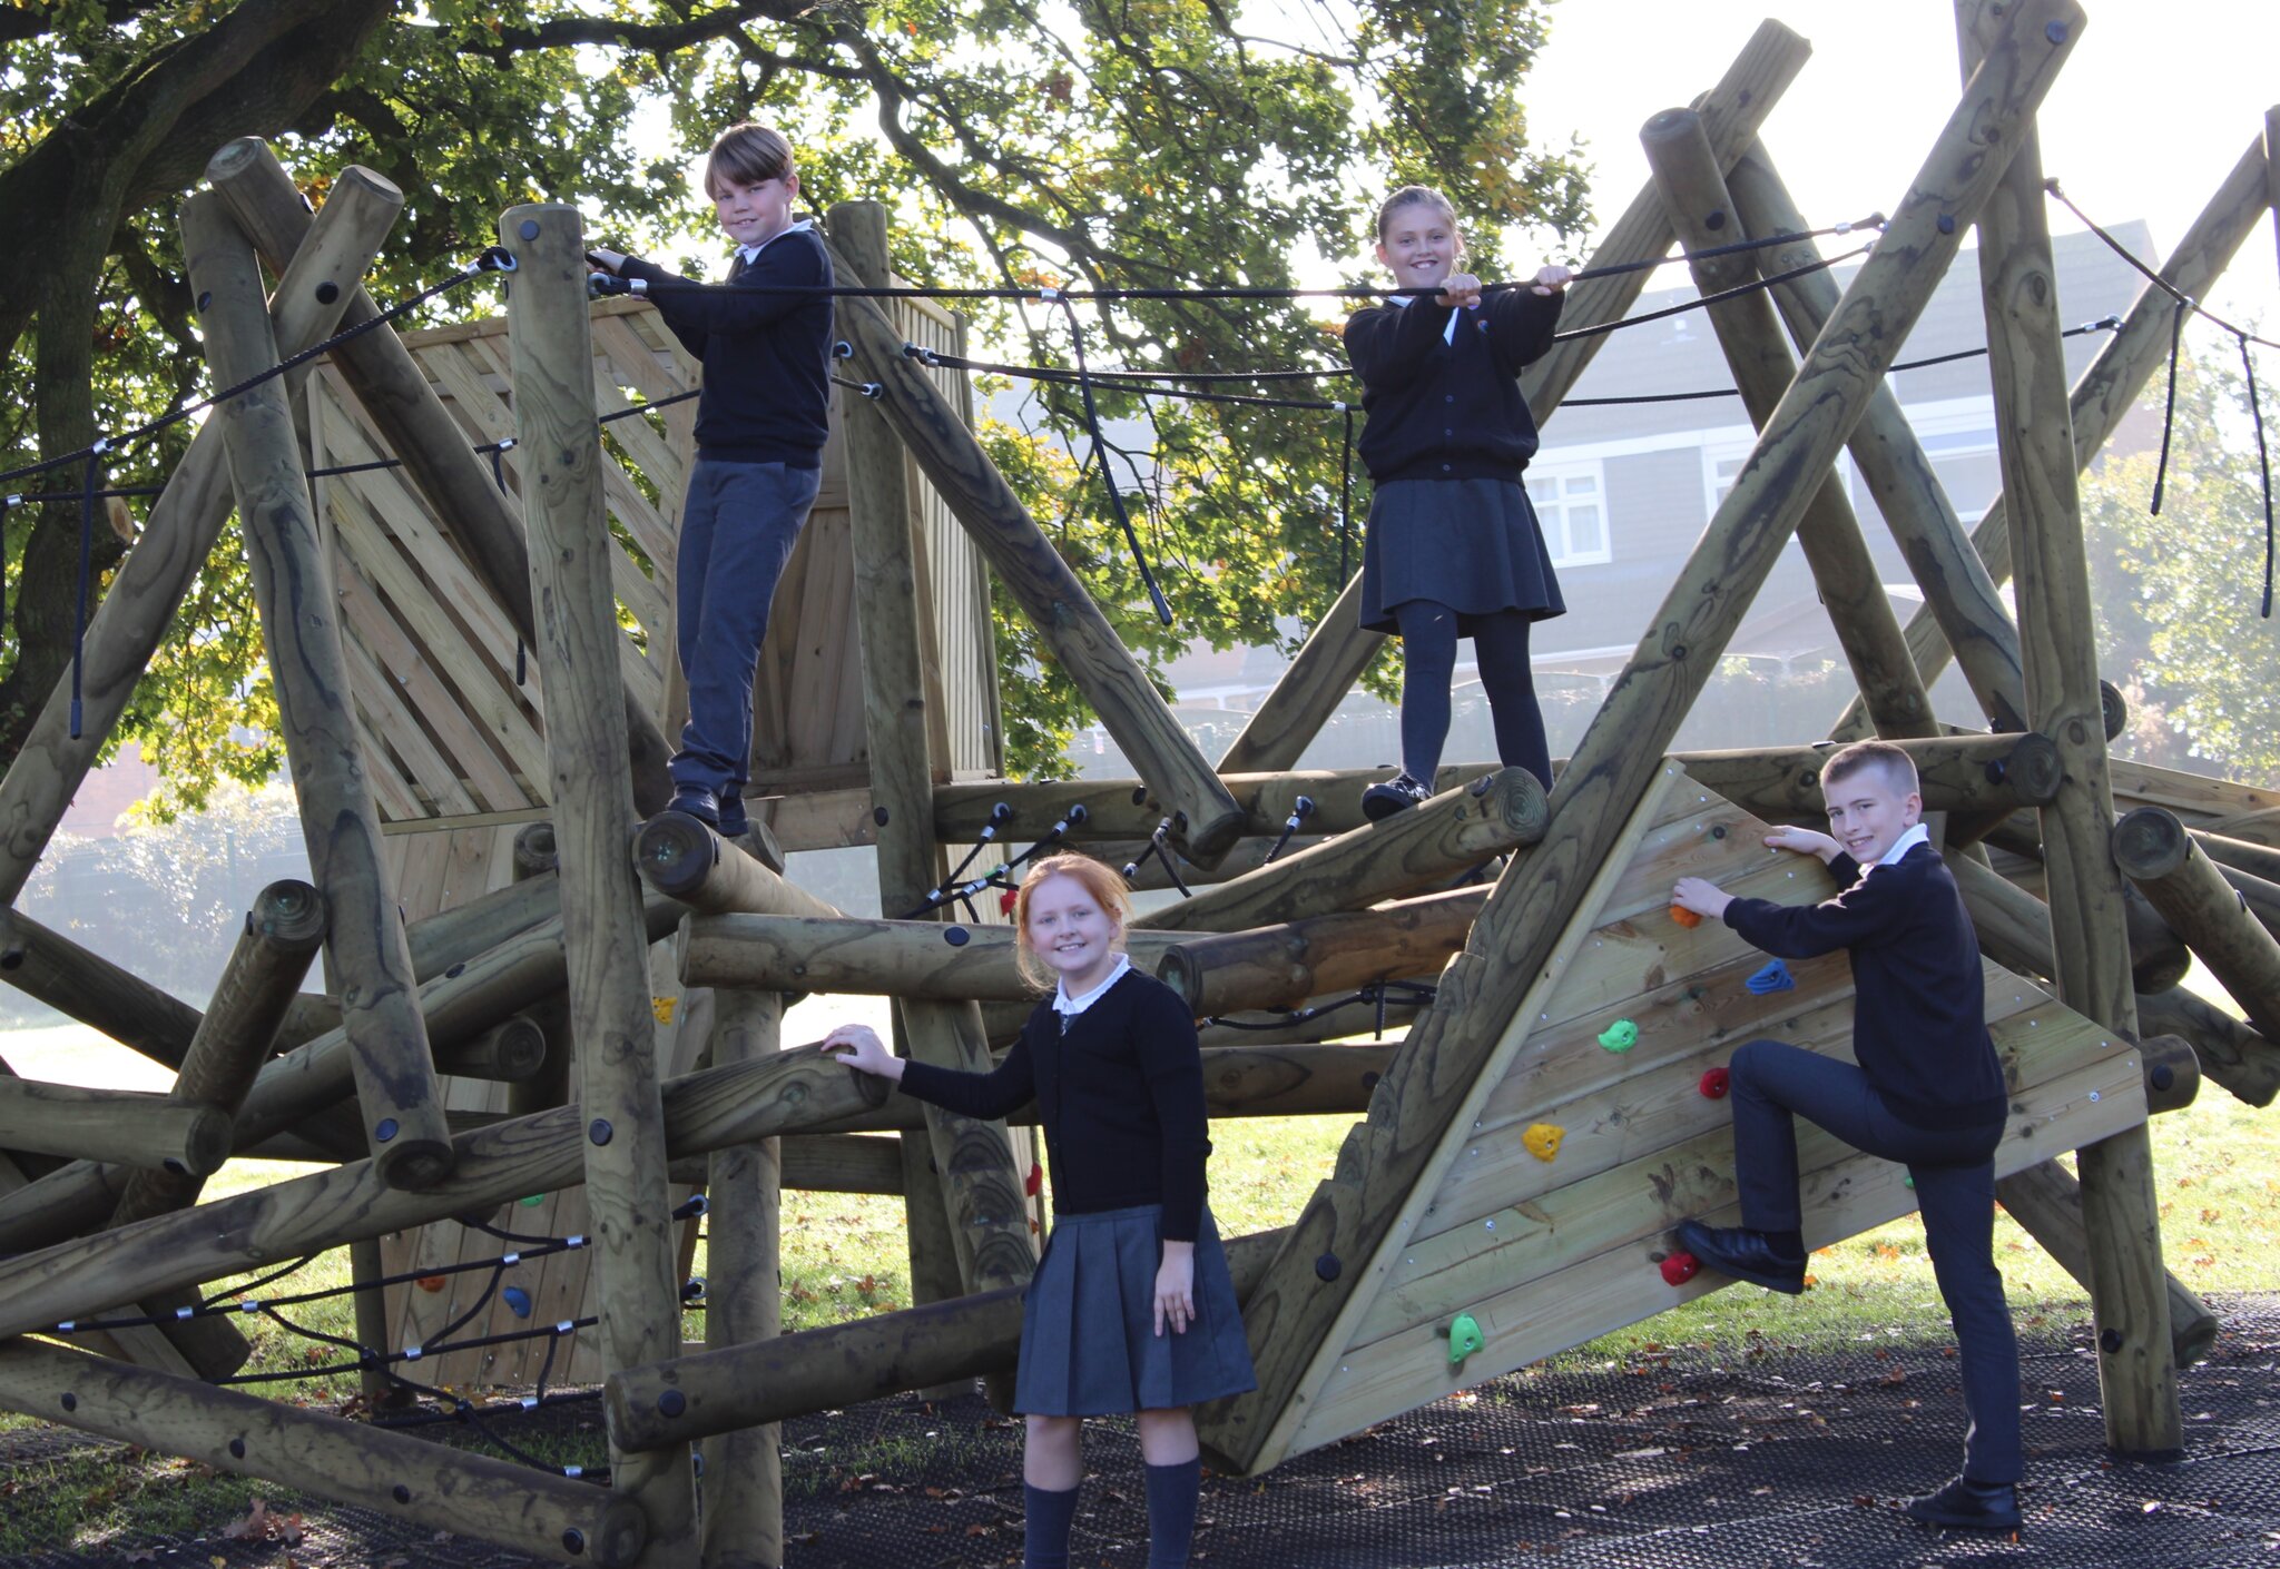
[[[698,461],[675,563],[675,652],[689,723],[673,755],[673,812],[730,839],[746,832],[752,771],[752,675],[768,604],[823,481],[830,433],[832,258],[807,219],[791,219],[800,176],[791,144],[766,125],[730,125],[705,160],[705,194],[736,242],[727,287],[618,251],[595,267],[636,278],[705,363]]]

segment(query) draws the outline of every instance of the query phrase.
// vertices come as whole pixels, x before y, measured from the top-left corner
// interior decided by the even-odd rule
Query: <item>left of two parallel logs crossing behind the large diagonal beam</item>
[[[1701,253],[1746,235],[1762,237],[1762,230],[1744,230],[1737,221],[1726,178],[1719,173],[1717,148],[1710,146],[1699,112],[1664,109],[1655,114],[1639,132],[1639,146],[1646,148],[1646,164],[1653,169],[1683,251]],[[1694,287],[1705,299],[1758,281],[1753,251],[1694,255],[1687,267]],[[1749,410],[1751,424],[1765,429],[1797,374],[1797,360],[1781,338],[1772,301],[1762,292],[1742,294],[1705,306],[1705,315],[1719,349],[1726,353],[1726,365],[1733,369],[1742,408]],[[1908,655],[1908,641],[1899,634],[1892,600],[1883,591],[1860,534],[1860,520],[1854,515],[1845,483],[1835,472],[1822,477],[1797,520],[1797,543],[1813,568],[1813,582],[1829,609],[1829,625],[1835,627],[1860,700],[1876,721],[1876,734],[1886,739],[1938,734],[1931,698],[1915,675],[1915,659]]]

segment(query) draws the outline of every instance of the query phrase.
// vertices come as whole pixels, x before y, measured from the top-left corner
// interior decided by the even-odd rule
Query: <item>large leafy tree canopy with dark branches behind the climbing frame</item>
[[[880,198],[896,269],[921,283],[1097,287],[1288,285],[1309,258],[1366,251],[1368,212],[1402,180],[1443,187],[1480,271],[1512,226],[1573,230],[1585,182],[1528,135],[1521,82],[1544,0],[1297,2],[1270,23],[1220,0],[57,0],[0,9],[0,214],[30,258],[0,294],[11,397],[0,468],[55,458],[205,388],[173,210],[230,137],[278,141],[321,198],[344,164],[408,205],[381,303],[465,265],[506,205],[577,201],[629,249],[709,267],[709,212],[684,171],[736,119],[780,125],[816,210]],[[1359,274],[1354,274],[1359,276]],[[495,301],[461,290],[440,310]],[[1067,365],[1067,328],[1033,306],[978,308],[978,340]],[[1145,301],[1088,308],[1094,365],[1336,365],[1327,301]],[[431,317],[433,319],[433,317]],[[1304,383],[1300,383],[1304,385]],[[1336,385],[1336,383],[1332,383]],[[1288,392],[1290,385],[1261,388]],[[1332,392],[1336,397],[1336,392]],[[1078,404],[1044,388],[1026,429],[992,429],[1008,477],[1056,529],[1142,657],[1188,639],[1288,641],[1336,593],[1336,415],[1104,397],[1151,415],[1147,452],[1101,468],[1140,520],[1179,625],[1156,625],[1099,474],[1081,477]],[[173,426],[103,470],[162,483]],[[7,525],[0,757],[14,757],[71,652],[80,470],[21,481]],[[103,579],[125,540],[96,529]],[[1028,629],[1001,618],[1008,764],[1051,769],[1078,721]],[[207,566],[119,739],[180,798],[276,766],[251,586],[235,536]]]

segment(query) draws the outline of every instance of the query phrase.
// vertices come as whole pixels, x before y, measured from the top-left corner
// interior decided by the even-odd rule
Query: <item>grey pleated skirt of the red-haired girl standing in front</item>
[[[1195,1318],[1156,1334],[1161,1204],[1058,1216],[1021,1295],[1012,1405],[1026,1416],[1117,1416],[1256,1389],[1236,1282],[1204,1211],[1195,1238]]]

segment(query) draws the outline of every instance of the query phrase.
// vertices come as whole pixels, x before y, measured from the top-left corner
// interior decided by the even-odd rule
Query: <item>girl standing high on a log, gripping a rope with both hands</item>
[[[1404,185],[1377,210],[1377,260],[1411,294],[1345,322],[1361,376],[1361,461],[1375,499],[1361,547],[1361,625],[1402,639],[1402,771],[1361,791],[1393,816],[1432,796],[1448,739],[1457,639],[1473,639],[1496,750],[1550,789],[1553,759],[1528,670],[1528,627],[1566,613],[1521,470],[1537,422],[1521,367],[1553,347],[1566,267],[1482,290],[1457,271],[1464,235],[1448,196]]]

